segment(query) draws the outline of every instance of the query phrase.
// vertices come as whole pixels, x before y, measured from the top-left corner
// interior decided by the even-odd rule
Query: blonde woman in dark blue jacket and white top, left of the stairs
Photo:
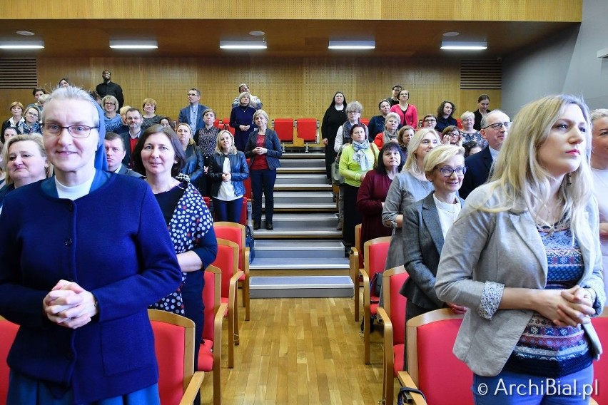
[[[228,130],[221,130],[216,141],[216,152],[209,158],[211,198],[216,221],[240,223],[245,185],[249,168],[245,154],[236,149],[234,137]]]

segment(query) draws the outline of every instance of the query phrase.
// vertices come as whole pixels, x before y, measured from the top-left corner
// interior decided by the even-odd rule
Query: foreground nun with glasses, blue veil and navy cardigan
[[[86,91],[57,88],[43,122],[54,176],[0,214],[0,315],[19,324],[6,403],[160,404],[147,307],[181,283],[161,210],[146,183],[106,171]]]

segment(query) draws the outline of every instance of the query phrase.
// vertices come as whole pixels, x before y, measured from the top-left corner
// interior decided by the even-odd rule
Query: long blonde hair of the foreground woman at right
[[[485,212],[528,210],[532,218],[538,222],[539,212],[551,198],[549,182],[554,179],[539,162],[539,148],[547,140],[555,121],[572,104],[579,106],[584,116],[587,131],[582,133],[582,136],[587,142],[584,143],[582,151],[584,155],[579,167],[565,175],[559,185],[557,198],[563,205],[559,217],[570,221],[572,235],[582,246],[590,247],[594,235],[589,229],[585,209],[587,201],[592,198],[592,190],[589,187],[592,184],[589,168],[591,125],[589,108],[576,96],[567,94],[547,96],[522,107],[515,116],[509,136],[502,145],[491,178],[490,190],[502,190],[506,200],[492,207],[478,207],[478,209]],[[487,198],[490,198],[490,194]]]

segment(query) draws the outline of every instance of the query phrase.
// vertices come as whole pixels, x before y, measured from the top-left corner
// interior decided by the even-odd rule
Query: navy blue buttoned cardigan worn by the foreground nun
[[[8,364],[77,403],[158,381],[147,307],[175,291],[181,272],[148,185],[109,175],[88,195],[53,198],[42,185],[6,196],[0,215],[0,314],[21,325]],[[61,280],[93,293],[99,312],[78,329],[46,317],[42,301]]]

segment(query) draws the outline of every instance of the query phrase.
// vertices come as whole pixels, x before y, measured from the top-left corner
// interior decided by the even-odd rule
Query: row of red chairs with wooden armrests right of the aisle
[[[358,225],[360,226],[360,225]],[[359,230],[360,231],[360,230]],[[459,404],[473,404],[472,372],[465,363],[452,354],[452,347],[460,329],[462,315],[451,309],[437,309],[420,317],[410,319],[405,324],[407,299],[400,289],[407,280],[405,267],[384,270],[390,237],[368,240],[360,247],[358,232],[355,231],[355,247],[350,255],[350,270],[355,285],[355,321],[358,322],[360,275],[363,279],[364,308],[364,362],[370,364],[370,322],[372,315],[378,315],[383,327],[384,356],[382,359],[382,403],[393,404],[394,379],[402,386],[417,388],[425,393],[426,401],[418,394],[412,394],[414,404],[447,404],[457,399]],[[360,262],[360,253],[364,253]],[[370,280],[376,273],[383,272],[383,306],[370,292]],[[608,342],[608,307],[600,317],[592,318],[592,324],[601,342]],[[405,344],[407,341],[407,344]],[[407,351],[407,371],[404,369],[404,354]],[[594,378],[598,386],[608,384],[608,359],[602,357],[593,363]],[[603,391],[593,392],[591,404],[608,403],[608,395]]]

